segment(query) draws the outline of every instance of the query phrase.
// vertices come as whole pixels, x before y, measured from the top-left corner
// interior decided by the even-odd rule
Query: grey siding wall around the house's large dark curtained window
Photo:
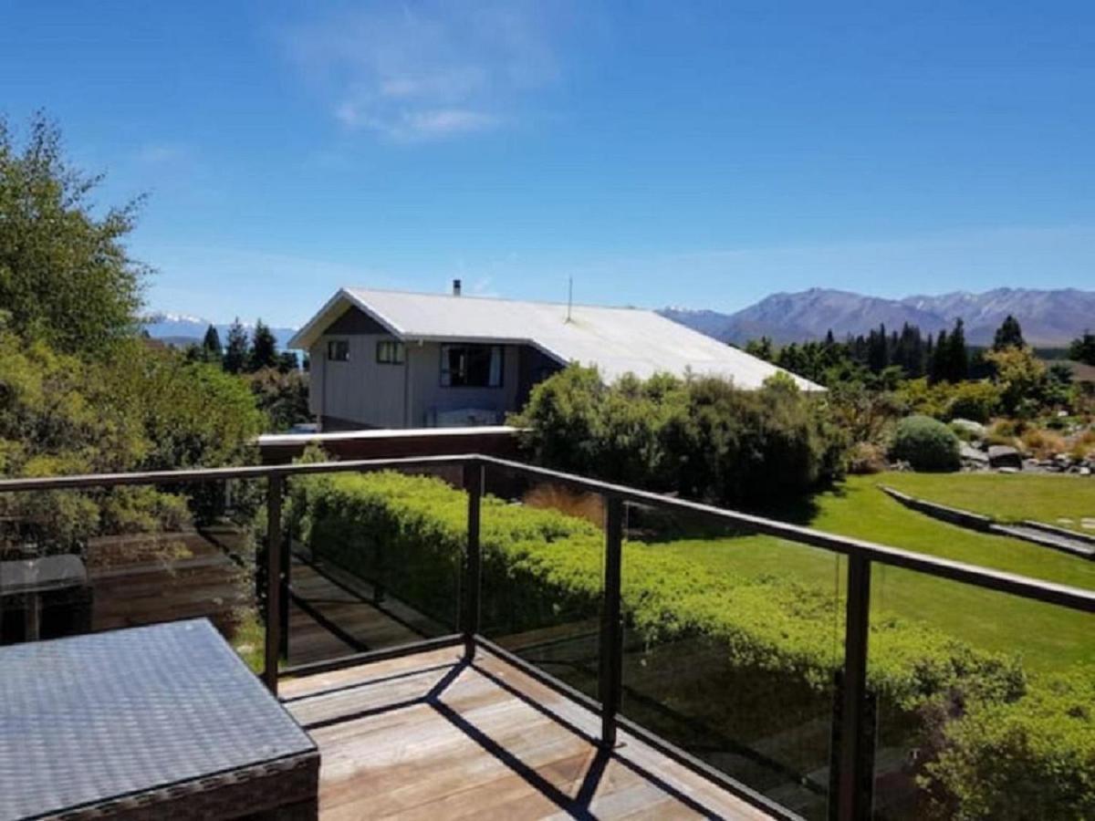
[[[437,415],[448,410],[491,410],[497,420],[516,408],[518,347],[505,346],[500,388],[442,388],[441,346],[438,343],[407,345],[411,363],[412,427],[437,425]]]

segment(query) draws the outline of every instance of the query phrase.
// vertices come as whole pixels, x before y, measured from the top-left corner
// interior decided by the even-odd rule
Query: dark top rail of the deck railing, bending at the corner
[[[938,558],[912,551],[889,547],[851,536],[823,533],[811,528],[766,519],[752,513],[688,501],[648,490],[638,490],[625,485],[576,476],[546,467],[537,467],[522,462],[512,462],[496,456],[464,453],[441,456],[415,456],[405,459],[366,459],[345,462],[312,462],[285,465],[254,465],[245,467],[205,467],[182,471],[153,471],[146,473],[105,473],[77,476],[47,476],[41,478],[0,479],[0,493],[27,493],[34,490],[87,489],[94,487],[117,487],[122,485],[157,485],[189,482],[217,482],[224,479],[262,479],[270,476],[299,476],[324,473],[346,473],[384,467],[443,467],[472,462],[494,465],[510,473],[538,477],[574,489],[599,493],[623,501],[650,505],[682,513],[692,513],[723,524],[748,528],[789,542],[811,547],[903,567],[918,573],[950,579],[967,585],[1012,593],[1025,599],[1058,604],[1061,606],[1095,613],[1095,591],[1083,590],[1068,585],[1033,579],[1026,576],[993,570],[978,565]]]

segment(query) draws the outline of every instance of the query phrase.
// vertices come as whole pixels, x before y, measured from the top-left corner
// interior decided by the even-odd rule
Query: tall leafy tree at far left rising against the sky
[[[73,169],[44,115],[18,146],[0,119],[0,305],[8,327],[69,354],[101,354],[136,332],[149,269],[126,253],[141,199],[96,216],[102,182]]]

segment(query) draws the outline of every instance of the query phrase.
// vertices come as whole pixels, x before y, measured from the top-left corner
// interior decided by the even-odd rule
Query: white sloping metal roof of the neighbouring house
[[[484,297],[343,288],[289,342],[308,348],[350,305],[407,340],[532,345],[562,363],[596,366],[606,381],[624,373],[718,375],[747,389],[781,369],[654,311],[522,302]],[[821,390],[794,377],[800,388]]]

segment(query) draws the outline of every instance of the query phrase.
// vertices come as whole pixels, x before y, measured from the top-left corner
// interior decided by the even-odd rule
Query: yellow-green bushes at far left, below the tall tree
[[[244,383],[173,351],[132,339],[89,361],[0,333],[0,474],[223,465],[249,455],[261,426]],[[0,510],[48,550],[185,519],[182,497],[151,488],[12,495]]]

